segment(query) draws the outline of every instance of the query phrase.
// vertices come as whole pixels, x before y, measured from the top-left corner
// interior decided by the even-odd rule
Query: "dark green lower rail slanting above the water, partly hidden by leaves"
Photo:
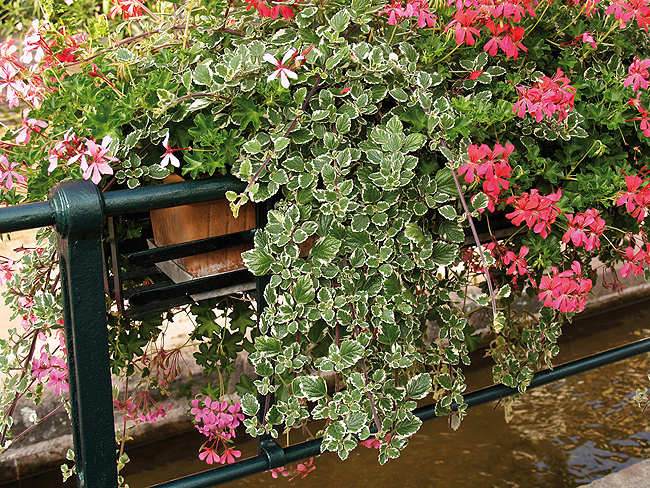
[[[553,370],[544,370],[536,373],[528,389],[538,388],[646,352],[650,352],[650,339],[644,339],[632,344],[626,344],[615,349],[610,349],[609,351],[594,354],[586,358],[577,359],[558,366]],[[464,397],[464,400],[468,407],[476,407],[484,403],[500,400],[516,393],[517,390],[515,388],[509,388],[503,385],[493,385],[468,394]],[[413,413],[423,422],[433,420],[437,417],[435,414],[435,404],[417,408]],[[289,464],[319,455],[321,453],[321,443],[322,439],[319,438],[285,447],[283,450],[286,463]],[[245,478],[246,476],[259,474],[268,471],[269,469],[269,460],[265,456],[256,456],[228,466],[214,468],[204,471],[203,473],[154,485],[152,488],[208,488],[217,484]]]

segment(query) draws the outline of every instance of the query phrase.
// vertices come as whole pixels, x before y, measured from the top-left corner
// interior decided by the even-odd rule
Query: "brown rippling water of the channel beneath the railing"
[[[650,337],[650,301],[583,317],[565,327],[555,364]],[[466,373],[469,390],[490,384],[490,360],[475,355]],[[376,452],[359,446],[342,462],[335,454],[314,460],[305,479],[273,479],[263,473],[223,485],[320,488],[466,487],[570,488],[650,458],[650,410],[642,413],[634,391],[648,386],[650,354],[637,356],[561,383],[533,390],[504,420],[494,404],[469,410],[457,432],[443,419],[425,423],[397,460],[380,467]],[[202,436],[190,432],[129,450],[123,474],[131,488],[203,471],[197,458]],[[239,442],[245,456],[255,441]],[[43,473],[4,488],[65,487],[60,473]]]

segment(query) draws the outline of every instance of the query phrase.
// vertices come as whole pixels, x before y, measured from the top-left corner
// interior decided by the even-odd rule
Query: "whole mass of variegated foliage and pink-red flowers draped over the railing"
[[[15,95],[33,109],[5,136],[2,198],[41,200],[70,178],[239,177],[235,214],[273,202],[244,254],[268,276],[266,307],[259,331],[239,301],[192,307],[198,364],[228,373],[250,350],[257,376],[238,391],[251,435],[324,419],[323,450],[346,458],[375,439],[385,463],[418,430],[419,400],[459,425],[477,327],[493,335],[495,380],[523,392],[605,272],[592,258],[643,272],[650,13],[630,5],[634,25],[609,2],[247,2],[115,0],[125,22],[111,32],[98,17],[76,40],[34,27],[44,44],[24,50],[44,49],[29,78],[40,92]],[[492,37],[476,45],[481,32]],[[541,312],[515,306],[522,295]],[[109,327],[127,377],[163,333],[160,317]],[[225,414],[225,384],[193,401],[197,421]],[[238,452],[214,446],[209,463]]]

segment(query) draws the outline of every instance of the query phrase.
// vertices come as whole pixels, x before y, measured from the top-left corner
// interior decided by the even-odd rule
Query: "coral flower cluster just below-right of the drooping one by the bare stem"
[[[551,230],[551,224],[560,215],[560,208],[555,205],[562,198],[562,190],[550,195],[541,195],[535,188],[530,193],[512,196],[506,200],[508,205],[515,207],[514,212],[506,214],[514,225],[521,225],[525,220],[529,229],[546,238]]]

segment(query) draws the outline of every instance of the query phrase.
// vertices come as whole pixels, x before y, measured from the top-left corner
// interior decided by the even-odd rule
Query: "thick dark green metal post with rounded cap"
[[[90,181],[56,185],[75,465],[79,488],[116,488],[115,428],[102,277],[104,202]]]

